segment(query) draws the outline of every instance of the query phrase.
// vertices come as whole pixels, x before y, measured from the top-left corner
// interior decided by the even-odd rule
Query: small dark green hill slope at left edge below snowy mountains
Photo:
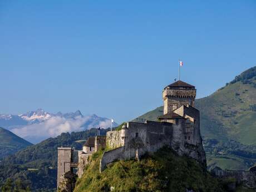
[[[30,142],[0,127],[0,160],[7,155],[32,145]]]

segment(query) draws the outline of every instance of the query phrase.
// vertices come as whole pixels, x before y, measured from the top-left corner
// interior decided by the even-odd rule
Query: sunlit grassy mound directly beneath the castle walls
[[[188,157],[176,156],[168,148],[154,155],[145,155],[140,161],[127,160],[109,164],[99,173],[102,152],[93,155],[91,165],[77,180],[74,192],[98,191],[224,191],[217,179]]]

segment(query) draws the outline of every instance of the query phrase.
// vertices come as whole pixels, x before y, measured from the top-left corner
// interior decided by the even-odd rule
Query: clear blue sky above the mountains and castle
[[[0,0],[0,113],[127,121],[178,77],[208,96],[256,65],[256,1]]]

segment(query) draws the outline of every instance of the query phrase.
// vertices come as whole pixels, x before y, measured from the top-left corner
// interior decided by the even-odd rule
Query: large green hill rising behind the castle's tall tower
[[[219,145],[224,146],[225,142],[230,144],[232,141],[237,141],[237,150],[243,148],[243,152],[238,153],[239,155],[234,156],[234,151],[229,150],[229,154],[225,153],[223,157],[224,147],[211,145],[211,148],[208,147],[208,151],[206,150],[209,165],[218,165],[223,169],[248,169],[256,163],[253,154],[249,155],[249,158],[247,155],[244,156],[248,152],[256,152],[255,95],[256,67],[253,67],[210,96],[195,101],[196,108],[200,110],[201,135],[205,143],[216,139]],[[157,120],[157,116],[162,114],[163,107],[158,107],[137,117],[134,121]],[[218,158],[210,154],[215,148],[218,149],[215,155]],[[235,147],[232,149],[235,150]]]

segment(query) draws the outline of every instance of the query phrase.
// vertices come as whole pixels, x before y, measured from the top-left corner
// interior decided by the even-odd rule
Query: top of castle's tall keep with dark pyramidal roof
[[[183,81],[176,81],[163,90],[164,115],[178,109],[180,106],[195,105],[196,89]]]

